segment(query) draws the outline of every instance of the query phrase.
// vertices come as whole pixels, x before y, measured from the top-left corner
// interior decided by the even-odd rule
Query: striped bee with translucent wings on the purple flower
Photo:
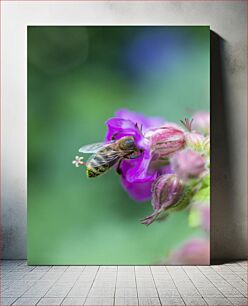
[[[79,149],[81,153],[93,153],[86,162],[86,174],[88,177],[96,177],[107,170],[116,167],[121,174],[120,165],[124,159],[138,158],[143,152],[138,149],[132,136],[125,136],[108,143],[95,143],[83,146]]]

